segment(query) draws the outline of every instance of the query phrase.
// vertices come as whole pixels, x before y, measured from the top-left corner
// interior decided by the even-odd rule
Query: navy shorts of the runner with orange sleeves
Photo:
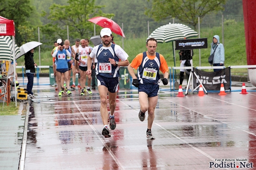
[[[138,91],[145,92],[148,95],[148,97],[158,96],[159,85],[158,84],[139,84]]]

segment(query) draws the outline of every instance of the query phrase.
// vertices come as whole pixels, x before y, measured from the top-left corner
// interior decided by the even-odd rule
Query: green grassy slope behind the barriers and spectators
[[[214,35],[220,36],[222,43],[221,27],[201,29],[201,37],[208,38],[208,48],[201,49],[201,66],[209,66],[208,57],[210,54],[210,43]],[[124,38],[124,49],[128,53],[128,60],[131,62],[137,54],[146,51],[145,40],[147,37]],[[198,38],[198,37],[195,37]],[[122,37],[116,36],[115,43],[122,47]],[[224,26],[224,48],[225,48],[225,66],[229,65],[247,65],[244,37],[244,23],[233,23],[232,25]],[[50,55],[52,49],[41,49],[41,65],[52,65],[52,57]],[[174,65],[172,42],[158,43],[157,52],[163,54],[169,67],[180,66],[178,51],[175,51],[176,63]],[[35,62],[39,65],[38,51],[35,51]],[[18,65],[24,65],[24,57],[17,59]],[[199,66],[199,50],[194,50],[193,65]],[[17,69],[21,73],[21,69]],[[49,73],[48,69],[41,69],[42,73]],[[233,69],[232,74],[247,74],[247,69]]]

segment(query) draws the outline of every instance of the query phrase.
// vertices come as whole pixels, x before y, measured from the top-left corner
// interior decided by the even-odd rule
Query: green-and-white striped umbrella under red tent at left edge
[[[13,61],[13,46],[10,36],[0,36],[0,60]],[[15,44],[15,56],[20,53],[20,48]]]

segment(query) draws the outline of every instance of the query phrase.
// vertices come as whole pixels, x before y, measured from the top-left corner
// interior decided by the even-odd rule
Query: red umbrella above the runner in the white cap
[[[103,28],[110,28],[113,33],[116,33],[118,35],[121,35],[122,37],[125,37],[125,34],[122,31],[121,27],[109,18],[94,17],[94,18],[89,19],[88,21],[95,23]]]

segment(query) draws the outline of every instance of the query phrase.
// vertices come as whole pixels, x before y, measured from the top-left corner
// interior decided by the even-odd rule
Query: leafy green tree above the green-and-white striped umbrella
[[[150,0],[148,0],[150,2]],[[148,16],[159,21],[177,18],[181,22],[192,25],[195,29],[198,17],[201,19],[212,11],[224,10],[227,0],[154,0],[152,8],[146,10]]]

